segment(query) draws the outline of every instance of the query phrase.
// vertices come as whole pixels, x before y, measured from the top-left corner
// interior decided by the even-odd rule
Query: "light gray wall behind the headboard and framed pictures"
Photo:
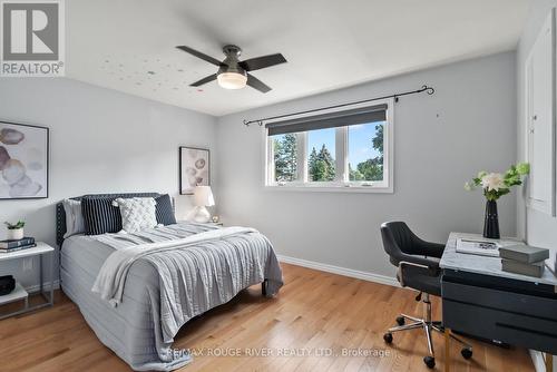
[[[1,79],[0,120],[50,128],[50,197],[0,200],[0,222],[23,218],[27,235],[52,245],[60,199],[143,190],[176,196],[178,146],[215,150],[214,117],[69,79]],[[188,202],[178,197],[178,217]],[[33,271],[22,272],[22,262],[0,265],[4,273],[27,286],[37,283]]]

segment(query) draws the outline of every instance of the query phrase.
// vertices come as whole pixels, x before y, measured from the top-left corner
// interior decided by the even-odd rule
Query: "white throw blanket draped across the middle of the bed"
[[[98,293],[101,298],[109,301],[114,306],[116,306],[121,302],[126,277],[131,264],[135,261],[156,252],[185,248],[202,242],[218,241],[232,235],[256,232],[256,229],[251,227],[234,226],[203,232],[185,238],[120,248],[110,254],[110,256],[108,256],[105,261],[91,291]]]

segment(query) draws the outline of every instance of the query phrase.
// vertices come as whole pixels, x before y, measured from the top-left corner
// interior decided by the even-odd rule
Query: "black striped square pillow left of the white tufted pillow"
[[[121,229],[120,209],[113,206],[113,202],[114,198],[108,197],[84,197],[81,199],[86,235],[118,233]]]

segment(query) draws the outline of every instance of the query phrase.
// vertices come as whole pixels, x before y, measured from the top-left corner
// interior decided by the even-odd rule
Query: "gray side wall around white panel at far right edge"
[[[538,32],[557,0],[536,0],[530,10],[517,51],[517,117],[518,117],[518,159],[526,159],[526,120],[525,120],[525,62]],[[534,209],[526,208],[525,198],[518,197],[518,235],[529,244],[557,251],[557,218]]]

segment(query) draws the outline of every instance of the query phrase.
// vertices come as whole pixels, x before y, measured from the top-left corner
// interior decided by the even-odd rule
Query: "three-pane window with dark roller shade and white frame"
[[[265,126],[265,185],[392,192],[392,99]]]

